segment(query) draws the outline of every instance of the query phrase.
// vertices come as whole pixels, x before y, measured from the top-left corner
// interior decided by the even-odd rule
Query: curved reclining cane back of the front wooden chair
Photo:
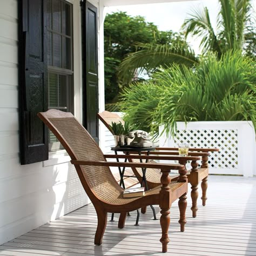
[[[38,113],[38,116],[55,134],[72,160],[106,160],[95,140],[72,113],[48,110]],[[83,165],[76,167],[76,170],[85,192],[92,201],[97,198],[107,202],[113,194],[122,191],[109,167]]]

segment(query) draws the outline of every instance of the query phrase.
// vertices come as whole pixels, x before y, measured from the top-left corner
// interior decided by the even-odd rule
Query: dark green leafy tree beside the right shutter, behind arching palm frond
[[[138,44],[137,44],[138,43]],[[124,57],[140,49],[139,44],[176,44],[185,43],[178,33],[159,31],[144,17],[131,17],[126,12],[108,14],[104,22],[104,63],[105,63],[105,102],[115,103],[123,83],[117,79],[118,65]],[[184,46],[185,47],[185,46]]]

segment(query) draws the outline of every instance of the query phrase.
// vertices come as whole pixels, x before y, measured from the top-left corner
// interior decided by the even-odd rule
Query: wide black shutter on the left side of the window
[[[48,109],[43,0],[19,2],[19,109],[21,164],[48,159],[48,131],[37,117]]]

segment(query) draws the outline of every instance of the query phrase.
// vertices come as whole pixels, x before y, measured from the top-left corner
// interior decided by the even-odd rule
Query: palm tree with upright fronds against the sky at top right
[[[186,37],[192,35],[201,39],[203,53],[215,51],[220,57],[227,50],[242,50],[247,26],[252,19],[252,6],[251,0],[219,0],[219,3],[216,32],[207,8],[194,10],[185,19],[183,29]]]

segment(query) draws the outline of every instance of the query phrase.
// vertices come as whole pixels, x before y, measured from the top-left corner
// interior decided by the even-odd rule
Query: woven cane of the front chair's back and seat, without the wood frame
[[[83,127],[75,118],[49,118],[51,123],[62,133],[62,136],[69,144],[76,159],[90,161],[105,161],[101,151]],[[153,171],[153,169],[151,169]],[[105,166],[82,166],[82,171],[91,190],[97,196],[111,204],[127,204],[137,198],[123,198],[123,188],[120,187],[117,181],[111,174],[109,167]],[[153,176],[152,176],[153,177]],[[170,184],[171,189],[180,185],[180,183]],[[160,186],[146,191],[148,194],[157,194],[160,191]]]

